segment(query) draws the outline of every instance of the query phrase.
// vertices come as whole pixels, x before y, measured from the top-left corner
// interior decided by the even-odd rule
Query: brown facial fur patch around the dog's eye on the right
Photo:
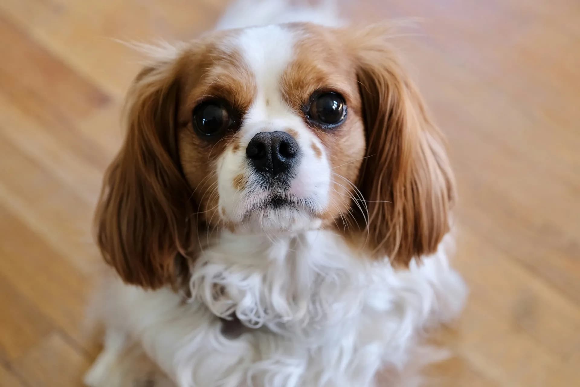
[[[333,227],[343,223],[341,214],[349,218],[349,210],[355,205],[353,185],[357,184],[362,158],[365,154],[365,132],[361,117],[361,99],[358,92],[356,66],[345,54],[342,39],[335,31],[325,27],[296,24],[306,32],[306,37],[295,46],[295,60],[282,76],[284,99],[304,117],[303,111],[315,92],[337,92],[345,99],[346,120],[332,129],[316,126],[304,117],[314,135],[324,146],[325,155],[332,168],[330,203],[322,214],[323,224]],[[316,157],[323,157],[322,150],[311,144]]]

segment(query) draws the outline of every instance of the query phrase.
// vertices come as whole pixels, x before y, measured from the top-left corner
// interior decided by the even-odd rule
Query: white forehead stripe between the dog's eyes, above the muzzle
[[[252,71],[256,96],[246,122],[280,119],[291,114],[282,99],[280,80],[294,56],[295,33],[283,26],[247,28],[235,45]]]

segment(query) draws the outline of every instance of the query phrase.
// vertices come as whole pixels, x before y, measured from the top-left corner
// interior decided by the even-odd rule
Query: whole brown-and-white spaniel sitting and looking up
[[[466,295],[441,133],[385,24],[292,9],[270,20],[318,24],[244,27],[263,24],[244,9],[242,28],[150,49],[129,89],[85,383],[416,385],[424,332]]]

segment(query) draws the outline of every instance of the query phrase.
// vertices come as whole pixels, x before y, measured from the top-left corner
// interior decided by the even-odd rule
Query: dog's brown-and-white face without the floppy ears
[[[356,68],[320,27],[249,28],[186,53],[180,163],[209,227],[288,232],[347,212],[365,153]]]

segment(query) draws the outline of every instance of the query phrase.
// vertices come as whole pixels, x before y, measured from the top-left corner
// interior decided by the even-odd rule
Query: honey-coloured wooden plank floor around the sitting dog
[[[226,2],[0,1],[0,386],[79,386],[97,351],[90,220],[139,68],[115,39],[194,37]],[[580,386],[580,2],[350,9],[420,18],[401,46],[458,178],[471,294],[433,384]]]

